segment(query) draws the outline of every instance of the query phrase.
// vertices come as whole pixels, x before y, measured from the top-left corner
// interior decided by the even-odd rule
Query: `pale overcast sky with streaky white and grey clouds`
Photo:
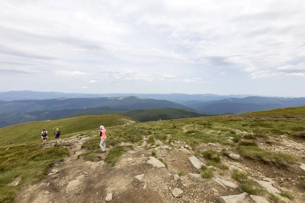
[[[305,96],[303,0],[0,8],[0,91]]]

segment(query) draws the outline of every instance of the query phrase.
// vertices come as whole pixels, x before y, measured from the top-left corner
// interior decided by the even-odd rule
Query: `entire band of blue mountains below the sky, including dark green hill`
[[[3,95],[6,97],[1,97]],[[0,127],[35,120],[54,120],[81,115],[117,114],[129,116],[139,121],[150,121],[305,106],[305,97],[242,97],[245,95],[235,95],[236,97],[224,98],[227,96],[217,94],[133,94],[137,96],[111,94],[116,95],[113,97],[93,97],[98,96],[96,94],[68,94],[71,97],[80,96],[80,98],[60,97],[4,101],[13,97],[38,98],[39,96],[53,97],[58,95],[67,96],[67,93],[50,92],[49,95],[48,92],[33,91],[0,93]],[[168,98],[171,101],[143,98],[139,95]],[[174,102],[173,100],[178,101]]]

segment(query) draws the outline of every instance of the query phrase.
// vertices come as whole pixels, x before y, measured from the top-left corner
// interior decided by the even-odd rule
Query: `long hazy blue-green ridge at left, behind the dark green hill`
[[[122,110],[175,108],[188,109],[185,105],[168,100],[129,97],[56,98],[45,100],[16,100],[0,104],[0,113],[54,111],[65,109],[110,108]],[[194,110],[193,110],[194,111]]]

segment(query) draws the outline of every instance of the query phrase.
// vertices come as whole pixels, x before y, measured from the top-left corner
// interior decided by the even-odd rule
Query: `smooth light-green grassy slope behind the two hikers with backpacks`
[[[12,125],[0,128],[0,146],[22,143],[27,141],[39,140],[41,131],[46,128],[49,135],[53,137],[56,127],[62,131],[63,136],[85,131],[90,129],[98,129],[100,125],[106,127],[124,124],[129,119],[125,116],[104,115],[104,116],[81,116],[51,121],[35,121]]]

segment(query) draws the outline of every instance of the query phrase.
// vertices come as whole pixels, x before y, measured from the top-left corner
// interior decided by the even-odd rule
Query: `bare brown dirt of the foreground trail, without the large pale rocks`
[[[147,149],[147,138],[143,138],[142,146],[135,146],[134,150],[129,150],[123,154],[116,162],[115,166],[105,164],[103,159],[107,153],[102,154],[102,160],[97,162],[84,161],[78,159],[79,154],[87,152],[81,149],[81,145],[87,138],[69,138],[64,139],[63,144],[70,143],[70,156],[63,162],[55,161],[54,166],[50,168],[49,173],[55,168],[59,171],[56,175],[46,176],[46,179],[35,185],[23,187],[18,192],[16,202],[21,203],[70,203],[70,202],[105,202],[107,193],[113,193],[113,199],[110,202],[206,202],[216,203],[219,196],[239,194],[240,189],[223,187],[211,179],[197,180],[189,175],[181,176],[179,180],[174,181],[173,175],[179,172],[196,173],[200,171],[194,168],[189,157],[193,156],[194,151],[181,147]],[[52,147],[51,144],[48,147]],[[177,144],[178,146],[179,144]],[[208,146],[202,144],[198,149],[212,148],[221,150],[223,146]],[[167,164],[167,168],[156,168],[146,163],[153,150],[162,157]],[[200,158],[201,159],[201,158]],[[201,159],[204,162],[204,159]],[[263,164],[258,162],[243,161],[238,163],[228,157],[223,157],[224,163],[234,165],[253,172],[253,177],[259,180],[259,176],[267,176],[260,167]],[[55,165],[58,164],[58,165]],[[214,167],[215,177],[238,184],[232,180],[228,171],[220,170]],[[299,168],[296,170],[300,171]],[[258,173],[256,173],[256,171]],[[268,172],[268,171],[266,171]],[[145,174],[144,182],[139,182],[134,177]],[[281,174],[281,172],[280,172]],[[271,177],[273,179],[273,177]],[[275,178],[275,177],[274,177]],[[280,177],[279,177],[280,178]],[[287,178],[287,177],[286,177]],[[275,179],[276,180],[276,179]],[[73,181],[76,186],[67,188]],[[172,195],[174,188],[180,188],[184,191],[181,198],[175,198]],[[296,202],[302,201],[304,193],[294,193]],[[243,200],[245,203],[254,203],[249,195]]]

